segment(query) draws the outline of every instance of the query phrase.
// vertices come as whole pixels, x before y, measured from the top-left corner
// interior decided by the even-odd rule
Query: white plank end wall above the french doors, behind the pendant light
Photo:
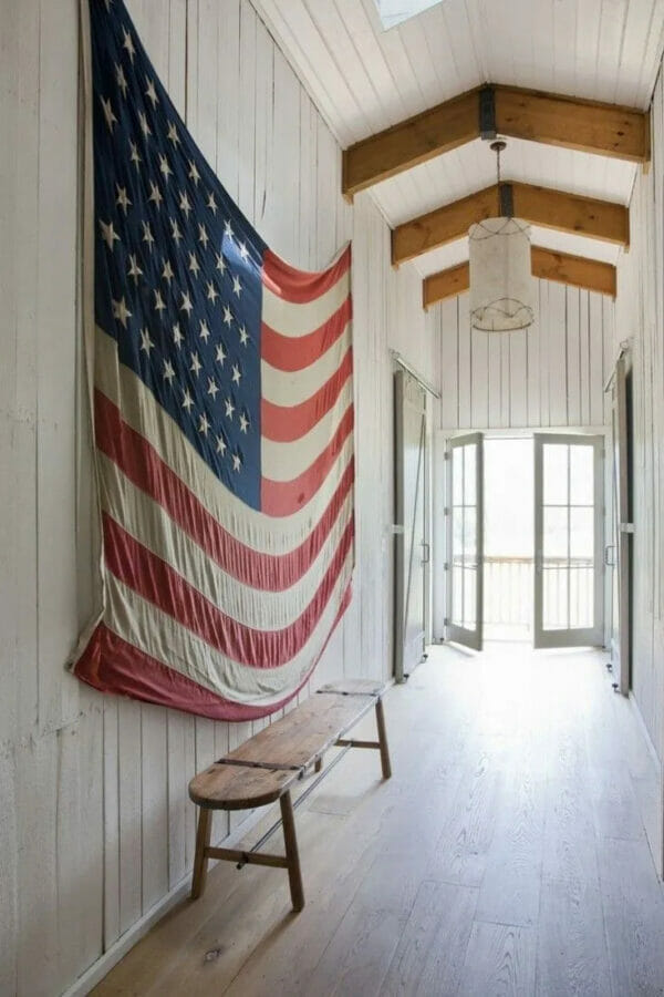
[[[521,332],[470,329],[467,294],[432,309],[438,323],[442,429],[601,426],[611,370],[611,298],[538,280],[536,321]]]

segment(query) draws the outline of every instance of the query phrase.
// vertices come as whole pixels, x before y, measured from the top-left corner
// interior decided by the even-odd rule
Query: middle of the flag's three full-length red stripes
[[[102,521],[104,558],[116,578],[220,654],[253,668],[277,668],[302,650],[330,600],[353,543],[351,520],[328,571],[298,619],[281,630],[257,630],[218,609],[175,568],[123,530],[108,513],[102,513]]]

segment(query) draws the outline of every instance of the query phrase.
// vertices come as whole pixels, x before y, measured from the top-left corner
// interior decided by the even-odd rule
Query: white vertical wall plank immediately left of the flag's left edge
[[[63,17],[69,7],[69,17]],[[37,487],[39,604],[39,721],[54,730],[79,708],[79,683],[62,669],[77,624],[75,504],[76,175],[71,151],[77,97],[76,4],[43,2],[40,34],[39,248],[37,281]],[[41,494],[52,501],[43,503]],[[54,585],[53,579],[59,579]]]

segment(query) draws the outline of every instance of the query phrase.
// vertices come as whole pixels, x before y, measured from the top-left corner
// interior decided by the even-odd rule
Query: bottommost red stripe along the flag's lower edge
[[[123,640],[105,624],[100,624],[95,629],[74,666],[74,674],[89,686],[98,689],[100,692],[117,692],[121,696],[142,699],[144,702],[156,702],[158,706],[185,710],[185,712],[196,713],[199,717],[209,717],[210,720],[255,720],[259,717],[267,717],[290,702],[309,681],[311,672],[318,665],[330,637],[351,602],[351,594],[349,585],[330,636],[325,640],[325,646],[321,655],[312,662],[311,670],[302,682],[279,702],[269,706],[252,707],[225,699]]]

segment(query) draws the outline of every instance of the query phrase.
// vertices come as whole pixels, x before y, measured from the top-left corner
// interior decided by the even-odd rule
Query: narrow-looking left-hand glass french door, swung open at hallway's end
[[[447,639],[481,650],[484,556],[484,438],[450,441],[447,463]]]

